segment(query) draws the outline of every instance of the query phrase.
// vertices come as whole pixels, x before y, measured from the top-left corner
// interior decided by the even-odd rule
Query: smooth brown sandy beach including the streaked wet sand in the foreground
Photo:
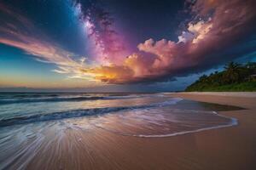
[[[256,169],[255,97],[169,95],[246,110],[219,111],[221,115],[237,118],[238,126],[167,138],[122,136],[101,129],[91,133],[67,129],[60,140],[55,139],[55,132],[47,132],[49,139],[45,141],[50,143],[42,144],[44,151],[39,147],[26,152],[34,154],[26,169]],[[25,164],[26,154],[21,155],[24,161],[16,162],[17,167]]]

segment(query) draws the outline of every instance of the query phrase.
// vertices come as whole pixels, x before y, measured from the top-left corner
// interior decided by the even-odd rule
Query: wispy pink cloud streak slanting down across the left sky
[[[53,71],[57,73],[83,76],[81,69],[86,68],[84,58],[74,59],[75,54],[49,41],[49,37],[38,31],[25,16],[12,12],[2,3],[0,9],[0,17],[3,17],[0,23],[0,43],[20,48],[40,62],[55,64],[58,68]]]

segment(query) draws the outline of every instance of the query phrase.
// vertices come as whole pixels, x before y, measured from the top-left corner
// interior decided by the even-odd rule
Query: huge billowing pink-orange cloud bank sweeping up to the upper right
[[[198,0],[190,6],[195,15],[178,42],[148,39],[139,52],[128,56],[122,65],[102,65],[84,72],[96,73],[104,82],[144,82],[174,77],[207,69],[240,56],[226,52],[246,42],[255,31],[254,0]],[[254,45],[254,49],[255,49]]]

